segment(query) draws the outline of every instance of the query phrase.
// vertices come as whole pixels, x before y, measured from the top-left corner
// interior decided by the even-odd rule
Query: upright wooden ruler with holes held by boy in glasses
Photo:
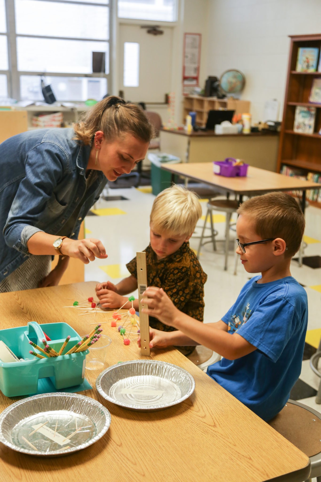
[[[140,312],[140,330],[141,330],[141,354],[150,356],[151,349],[149,348],[149,317],[141,310],[144,305],[141,304],[142,294],[147,288],[147,268],[146,268],[146,253],[136,253],[137,259],[137,281],[138,281],[138,301]]]

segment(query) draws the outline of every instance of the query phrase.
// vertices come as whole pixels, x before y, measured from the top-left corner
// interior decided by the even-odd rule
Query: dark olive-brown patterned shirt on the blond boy
[[[204,283],[207,280],[207,274],[204,273],[196,254],[191,250],[190,243],[184,242],[178,251],[160,260],[157,260],[151,245],[144,251],[146,252],[147,286],[163,288],[176,308],[195,320],[203,321]],[[129,273],[137,279],[136,257],[126,266]],[[176,329],[152,316],[149,317],[149,324],[152,328],[161,331]]]

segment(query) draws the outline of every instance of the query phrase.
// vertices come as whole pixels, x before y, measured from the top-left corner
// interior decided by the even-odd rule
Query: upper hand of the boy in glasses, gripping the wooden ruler
[[[142,308],[144,313],[154,316],[168,326],[175,326],[175,317],[180,311],[174,306],[163,288],[149,286],[142,295],[141,304],[148,306],[148,308]]]

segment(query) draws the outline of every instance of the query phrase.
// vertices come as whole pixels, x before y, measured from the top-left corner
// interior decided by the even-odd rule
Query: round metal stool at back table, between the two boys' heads
[[[202,236],[201,236],[200,244],[199,244],[198,250],[197,250],[197,258],[199,257],[202,246],[205,244],[203,242],[203,239],[205,237],[204,232],[205,232],[206,220],[207,220],[208,216],[210,216],[210,220],[211,220],[211,232],[212,232],[211,237],[212,237],[212,242],[213,242],[213,248],[214,248],[214,251],[216,251],[216,242],[215,242],[215,234],[214,234],[214,224],[213,224],[213,219],[212,219],[212,211],[221,211],[223,213],[226,213],[224,269],[225,269],[225,271],[227,270],[227,262],[228,262],[228,257],[229,257],[231,215],[233,213],[236,213],[238,207],[239,207],[239,203],[237,201],[232,201],[230,199],[211,199],[210,201],[208,201],[208,203],[207,203],[207,213],[206,213],[206,216],[205,216]],[[208,242],[208,241],[206,241],[206,242]]]

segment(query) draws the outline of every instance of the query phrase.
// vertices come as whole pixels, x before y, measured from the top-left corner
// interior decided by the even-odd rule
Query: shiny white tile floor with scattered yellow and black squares
[[[105,193],[107,194],[107,193]],[[151,193],[144,193],[135,188],[110,189],[109,196],[124,196],[128,201],[98,201],[97,210],[117,208],[124,214],[87,216],[85,220],[86,236],[100,239],[107,251],[107,260],[96,260],[85,266],[85,281],[107,281],[114,283],[128,276],[126,263],[137,251],[143,250],[149,243],[149,214],[154,201]],[[203,214],[206,213],[206,202],[202,202]],[[99,211],[98,211],[99,212]],[[199,221],[202,227],[204,221]],[[218,240],[224,239],[225,222],[216,222]],[[209,230],[208,230],[209,233]],[[196,229],[196,235],[201,229]],[[309,206],[306,210],[305,235],[311,239],[305,248],[305,255],[321,255],[321,210]],[[235,234],[231,231],[231,239]],[[199,240],[192,237],[191,247],[197,250]],[[232,243],[231,243],[232,247]],[[228,270],[224,271],[224,245],[218,241],[218,252],[213,252],[211,243],[206,244],[201,251],[200,263],[208,275],[205,283],[205,322],[218,321],[235,301],[242,286],[250,276],[241,263],[238,264],[238,274],[233,275],[234,254],[229,255]],[[107,272],[109,274],[107,274]],[[321,328],[321,268],[312,269],[307,266],[298,267],[295,261],[291,263],[292,275],[306,286],[308,294],[308,330]],[[311,286],[318,286],[319,291]],[[137,293],[136,293],[137,296]],[[320,378],[313,374],[308,361],[303,362],[300,378],[313,388],[318,387]],[[303,399],[300,402],[321,412],[321,405],[315,403],[315,397]]]

